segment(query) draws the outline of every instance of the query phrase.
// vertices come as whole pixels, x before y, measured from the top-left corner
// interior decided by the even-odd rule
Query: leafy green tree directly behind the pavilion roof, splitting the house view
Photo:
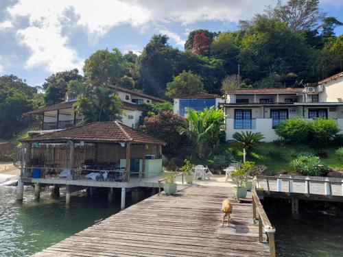
[[[104,86],[87,86],[73,110],[84,117],[83,123],[121,121],[123,110],[119,95]]]

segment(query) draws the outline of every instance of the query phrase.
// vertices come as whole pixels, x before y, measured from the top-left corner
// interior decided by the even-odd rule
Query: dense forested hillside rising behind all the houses
[[[343,70],[343,36],[334,34],[341,25],[320,12],[318,0],[290,0],[241,21],[234,32],[190,32],[184,50],[161,34],[140,56],[117,48],[98,50],[85,60],[83,75],[74,69],[47,77],[43,94],[14,75],[3,76],[0,138],[21,130],[22,112],[58,103],[67,92],[78,95],[84,85],[115,84],[171,99],[194,90],[221,93],[222,88],[315,83]]]

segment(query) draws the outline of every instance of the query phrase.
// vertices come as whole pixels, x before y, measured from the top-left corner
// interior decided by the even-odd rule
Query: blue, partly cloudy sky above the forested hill
[[[0,75],[38,86],[98,49],[140,53],[154,34],[183,50],[193,29],[233,31],[276,0],[0,0]],[[343,0],[320,0],[343,22]],[[343,27],[335,29],[343,34]]]

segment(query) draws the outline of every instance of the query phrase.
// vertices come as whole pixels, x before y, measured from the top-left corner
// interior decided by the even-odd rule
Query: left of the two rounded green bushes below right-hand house
[[[309,137],[310,125],[301,118],[287,119],[275,129],[275,133],[288,142],[304,142]]]

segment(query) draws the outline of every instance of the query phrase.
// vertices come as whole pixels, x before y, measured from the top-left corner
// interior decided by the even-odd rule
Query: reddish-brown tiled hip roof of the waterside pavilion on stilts
[[[71,127],[67,130],[60,130],[26,138],[23,142],[66,142],[68,140],[85,141],[85,142],[104,142],[104,143],[151,143],[165,145],[163,140],[149,136],[132,127],[128,127],[117,121],[95,122],[78,127]]]

